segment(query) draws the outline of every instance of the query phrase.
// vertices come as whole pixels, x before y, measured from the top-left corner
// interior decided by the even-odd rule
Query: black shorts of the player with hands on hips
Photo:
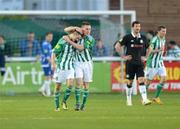
[[[126,62],[126,79],[133,80],[134,76],[144,77],[144,64],[142,62]]]

